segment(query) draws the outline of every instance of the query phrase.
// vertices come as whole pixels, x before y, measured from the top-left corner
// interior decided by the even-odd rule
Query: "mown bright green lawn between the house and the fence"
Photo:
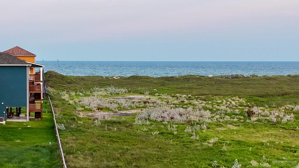
[[[43,107],[49,109],[47,100]],[[0,124],[0,167],[62,167],[52,113],[47,111],[42,120]]]

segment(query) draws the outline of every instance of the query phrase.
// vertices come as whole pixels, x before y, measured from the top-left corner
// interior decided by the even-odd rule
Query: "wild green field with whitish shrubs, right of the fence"
[[[45,78],[57,123],[65,126],[60,138],[68,167],[230,168],[238,159],[242,167],[292,168],[299,162],[298,75],[113,79],[49,71]],[[141,98],[120,98],[127,96]],[[130,110],[131,116],[114,116]]]

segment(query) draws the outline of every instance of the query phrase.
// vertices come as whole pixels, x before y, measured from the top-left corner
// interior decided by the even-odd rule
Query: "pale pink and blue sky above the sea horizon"
[[[298,0],[1,0],[36,60],[299,61]]]

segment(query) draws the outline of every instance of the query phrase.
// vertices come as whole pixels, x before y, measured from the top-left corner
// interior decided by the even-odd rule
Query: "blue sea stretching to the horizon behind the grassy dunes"
[[[37,61],[37,63],[44,64],[45,71],[74,76],[299,74],[299,62]]]

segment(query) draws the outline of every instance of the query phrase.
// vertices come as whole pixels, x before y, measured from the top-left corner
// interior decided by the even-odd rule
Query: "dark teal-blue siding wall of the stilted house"
[[[5,115],[5,120],[6,107],[27,105],[26,69],[26,66],[0,66],[0,117]]]

